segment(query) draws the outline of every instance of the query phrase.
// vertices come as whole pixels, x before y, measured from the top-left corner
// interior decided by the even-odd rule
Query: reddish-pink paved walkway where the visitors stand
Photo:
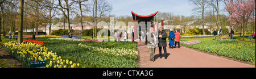
[[[167,43],[168,44],[168,43]],[[195,51],[186,47],[167,48],[167,59],[160,59],[158,47],[155,50],[155,62],[150,61],[150,52],[144,42],[138,41],[139,67],[141,68],[255,68],[249,65]],[[162,55],[163,50],[162,50]]]

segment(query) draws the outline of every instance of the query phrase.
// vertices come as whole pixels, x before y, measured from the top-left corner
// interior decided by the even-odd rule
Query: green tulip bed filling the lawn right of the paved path
[[[236,40],[202,40],[199,44],[181,43],[181,45],[238,60],[255,62],[255,43]]]

